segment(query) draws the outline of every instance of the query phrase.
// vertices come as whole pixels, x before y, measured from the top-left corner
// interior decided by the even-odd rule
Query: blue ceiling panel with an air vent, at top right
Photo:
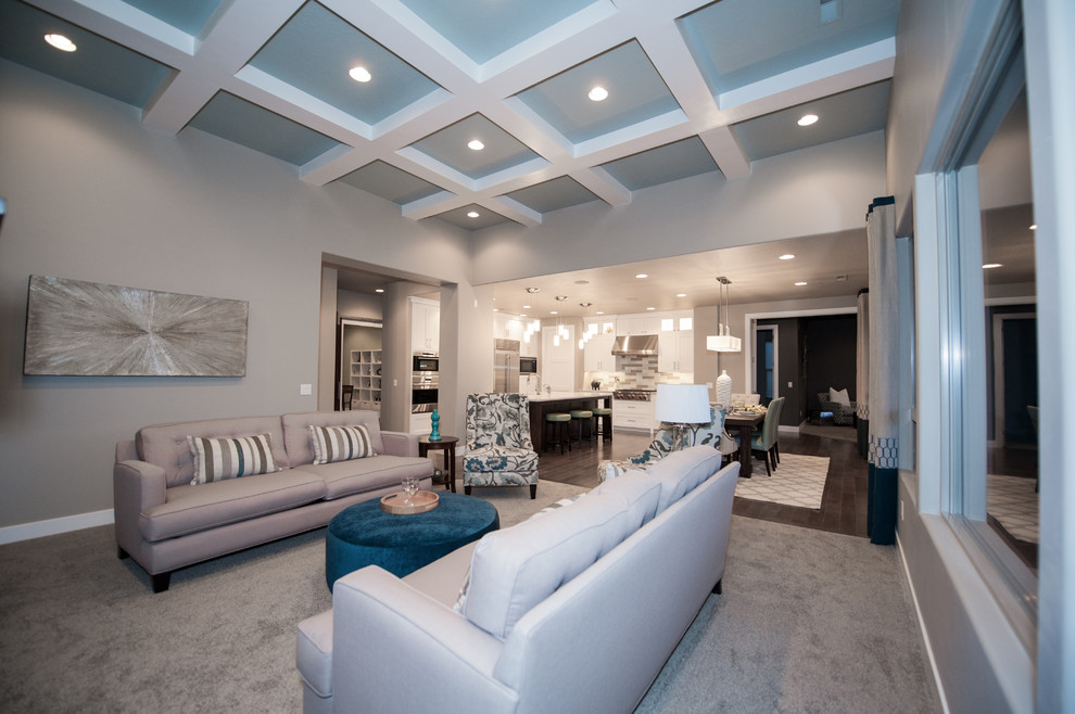
[[[713,94],[896,36],[898,0],[825,4],[836,20],[818,0],[721,0],[679,25]]]

